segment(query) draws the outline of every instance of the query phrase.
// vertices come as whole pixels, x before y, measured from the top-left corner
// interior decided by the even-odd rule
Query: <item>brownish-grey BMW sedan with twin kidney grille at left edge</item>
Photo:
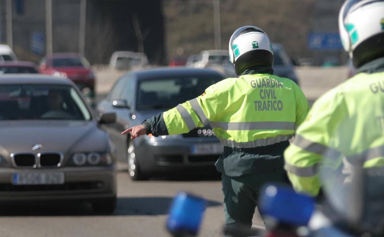
[[[0,202],[90,201],[116,207],[116,147],[65,78],[0,76]]]

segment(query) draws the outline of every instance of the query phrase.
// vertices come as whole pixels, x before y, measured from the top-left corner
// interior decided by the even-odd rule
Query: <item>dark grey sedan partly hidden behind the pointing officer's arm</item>
[[[117,114],[116,124],[106,127],[118,147],[119,158],[128,163],[132,179],[192,168],[199,172],[203,167],[214,167],[223,146],[209,126],[182,135],[155,138],[149,134],[133,141],[120,133],[199,96],[222,79],[216,71],[197,68],[157,68],[127,73],[119,78],[97,110],[100,114]]]

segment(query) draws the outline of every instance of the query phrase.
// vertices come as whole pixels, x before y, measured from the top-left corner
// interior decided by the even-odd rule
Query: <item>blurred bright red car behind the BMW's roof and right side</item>
[[[94,104],[95,75],[88,61],[77,53],[54,53],[40,61],[40,72],[59,77],[68,77],[90,98]]]

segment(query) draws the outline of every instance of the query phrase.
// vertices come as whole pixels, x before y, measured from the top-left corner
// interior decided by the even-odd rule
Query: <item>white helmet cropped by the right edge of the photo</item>
[[[356,68],[384,56],[384,0],[346,0],[339,30]]]

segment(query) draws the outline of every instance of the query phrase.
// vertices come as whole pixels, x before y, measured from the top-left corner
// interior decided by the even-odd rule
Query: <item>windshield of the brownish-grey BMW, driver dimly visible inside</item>
[[[91,114],[72,86],[1,85],[0,120],[90,120]]]

